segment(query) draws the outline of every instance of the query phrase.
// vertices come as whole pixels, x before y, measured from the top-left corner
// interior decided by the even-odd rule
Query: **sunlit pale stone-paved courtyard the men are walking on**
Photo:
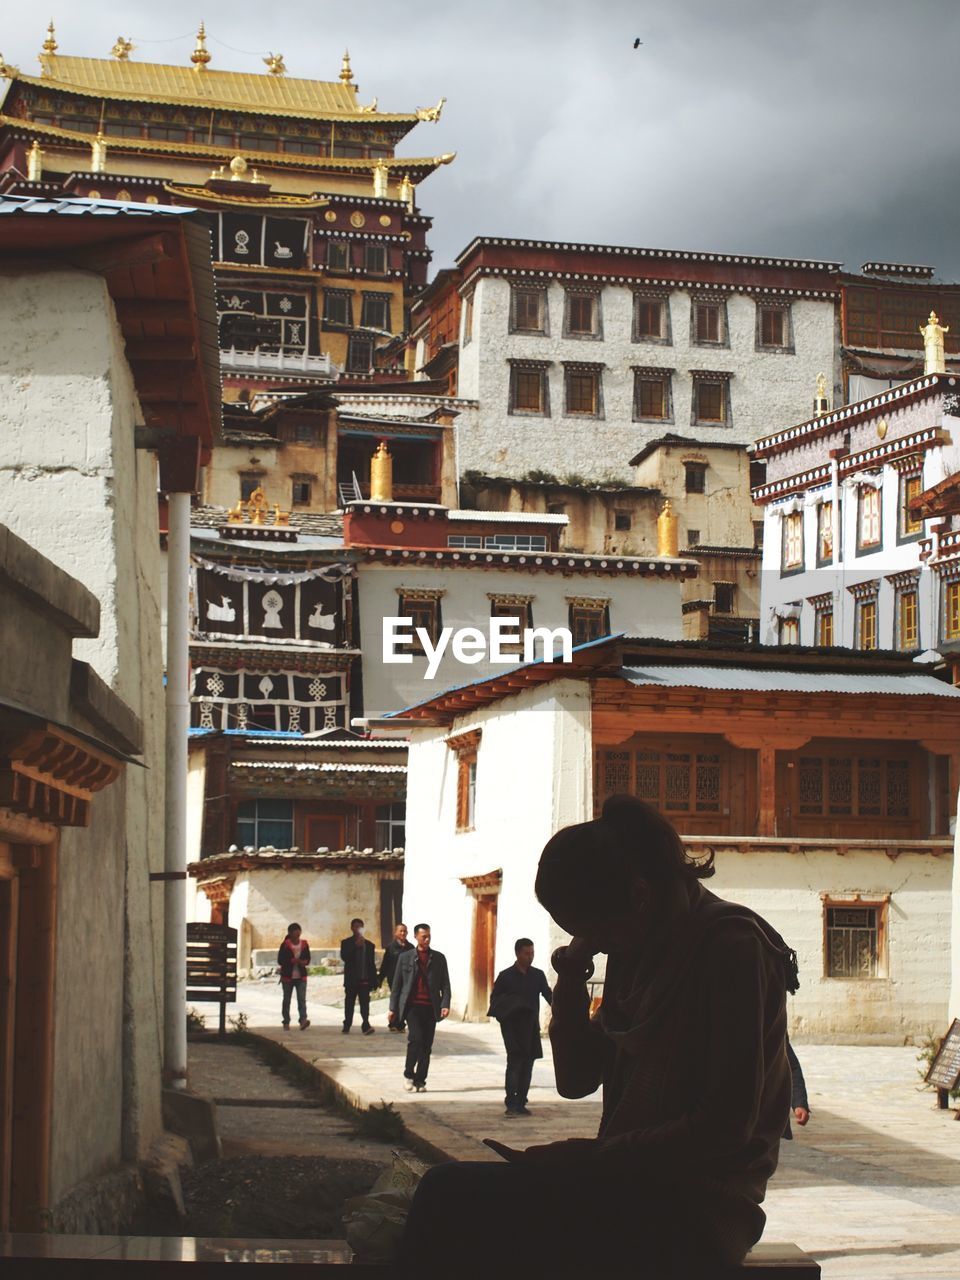
[[[454,1158],[495,1160],[484,1137],[512,1146],[595,1132],[599,1101],[570,1102],[553,1088],[549,1043],[536,1065],[527,1120],[503,1117],[503,1052],[494,1024],[438,1029],[428,1092],[402,1088],[404,1037],[340,1034],[329,979],[311,988],[312,1025],[279,1027],[275,983],[241,983],[237,1009],[250,1029],[288,1044],[360,1102],[394,1102],[408,1128]],[[314,998],[319,997],[319,998]],[[799,1044],[812,1120],[781,1147],[764,1206],[768,1240],[794,1240],[823,1266],[824,1280],[960,1280],[960,1123],[918,1089],[916,1050]]]

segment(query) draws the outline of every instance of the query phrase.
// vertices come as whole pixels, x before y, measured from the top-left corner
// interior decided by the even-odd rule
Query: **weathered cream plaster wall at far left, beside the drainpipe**
[[[133,447],[140,410],[102,279],[0,275],[0,399],[4,520],[99,598],[100,635],[74,653],[143,722],[148,765],[128,768],[92,826],[60,846],[55,1203],[161,1130],[161,890],[148,882],[164,842],[156,465]]]

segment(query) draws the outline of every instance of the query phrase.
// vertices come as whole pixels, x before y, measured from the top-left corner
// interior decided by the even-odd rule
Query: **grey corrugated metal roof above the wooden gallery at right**
[[[960,689],[933,676],[855,676],[819,671],[763,671],[751,667],[648,666],[625,667],[631,685],[664,689],[742,689],[781,694],[890,694],[960,698]]]

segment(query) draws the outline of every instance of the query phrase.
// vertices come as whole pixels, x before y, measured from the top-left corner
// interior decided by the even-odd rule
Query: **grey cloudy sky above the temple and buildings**
[[[182,63],[202,17],[218,68],[259,72],[273,50],[335,79],[348,45],[361,101],[445,95],[402,148],[457,152],[419,193],[435,268],[486,234],[960,279],[956,0],[74,0],[52,17],[63,54],[106,56],[122,33],[134,58]],[[10,6],[8,61],[36,69],[46,20]]]

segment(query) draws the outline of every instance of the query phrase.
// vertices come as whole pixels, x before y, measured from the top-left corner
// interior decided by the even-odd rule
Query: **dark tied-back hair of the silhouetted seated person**
[[[595,822],[563,827],[547,841],[536,896],[548,911],[605,915],[626,900],[637,878],[652,884],[713,876],[713,854],[700,861],[663,814],[635,796],[611,796]]]

